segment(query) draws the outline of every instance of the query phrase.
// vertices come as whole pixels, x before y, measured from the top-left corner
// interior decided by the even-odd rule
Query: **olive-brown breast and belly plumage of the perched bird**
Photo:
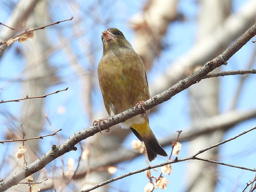
[[[104,104],[109,113],[113,111],[109,108],[111,105],[117,114],[131,108],[140,100],[148,99],[148,94],[145,95],[143,63],[132,56],[102,57],[98,66],[98,77]]]

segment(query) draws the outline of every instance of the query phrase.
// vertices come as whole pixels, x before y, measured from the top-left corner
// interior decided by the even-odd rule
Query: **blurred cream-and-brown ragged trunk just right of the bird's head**
[[[161,54],[162,39],[170,24],[183,19],[183,15],[177,11],[179,1],[150,0],[144,6],[143,12],[133,15],[131,19],[135,32],[132,45],[143,60],[146,71]]]

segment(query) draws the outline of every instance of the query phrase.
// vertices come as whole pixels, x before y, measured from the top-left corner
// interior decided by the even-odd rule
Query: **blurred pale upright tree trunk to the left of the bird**
[[[26,27],[38,28],[49,23],[48,13],[47,13],[47,1],[39,1],[35,7],[34,12],[29,16],[26,23]],[[41,55],[49,49],[49,44],[47,41],[47,36],[45,30],[36,31],[36,38],[29,39],[28,42],[24,44],[24,77],[29,79],[23,83],[23,96],[38,96],[46,94],[46,89],[53,81],[53,76],[48,77],[53,71],[49,67],[47,60],[40,59]],[[46,76],[44,78],[37,79],[38,76]],[[45,99],[31,99],[22,102],[20,123],[23,123],[23,129],[26,132],[26,138],[39,136],[43,128],[44,122],[44,108]],[[40,156],[40,147],[38,145],[40,140],[29,140],[25,142],[25,146],[28,148],[28,164],[32,163]],[[20,145],[20,143],[17,145]],[[16,149],[18,146],[16,147]],[[23,167],[23,161],[19,160],[20,165],[17,169],[20,170]],[[39,172],[38,172],[39,173]],[[36,175],[36,174],[35,174]],[[35,178],[36,179],[36,178]],[[23,191],[28,190],[28,186],[19,185],[15,186],[16,189],[24,187]]]

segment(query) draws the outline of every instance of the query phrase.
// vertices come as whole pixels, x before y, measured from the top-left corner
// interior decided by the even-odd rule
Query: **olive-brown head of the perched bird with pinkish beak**
[[[120,48],[132,48],[132,45],[125,39],[124,34],[117,28],[109,28],[102,32],[103,53],[107,50]]]

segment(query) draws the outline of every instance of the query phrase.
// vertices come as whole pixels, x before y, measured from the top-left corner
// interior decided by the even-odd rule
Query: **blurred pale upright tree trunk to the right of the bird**
[[[230,13],[231,3],[231,0],[199,1],[198,42],[204,39],[204,36],[214,31],[214,28],[222,25],[223,21]],[[218,54],[215,56],[217,55]],[[208,58],[208,60],[211,59],[212,58]],[[219,70],[220,68],[217,68],[214,72]],[[211,78],[205,79],[201,81],[200,84],[195,84],[189,88],[190,114],[193,123],[219,113],[219,83],[219,78]],[[220,142],[223,138],[223,134],[223,131],[217,131],[190,141],[190,155],[202,148]],[[218,148],[206,151],[201,156],[207,159],[218,160]],[[218,170],[216,164],[199,161],[188,162],[188,191],[213,192],[217,180]]]

